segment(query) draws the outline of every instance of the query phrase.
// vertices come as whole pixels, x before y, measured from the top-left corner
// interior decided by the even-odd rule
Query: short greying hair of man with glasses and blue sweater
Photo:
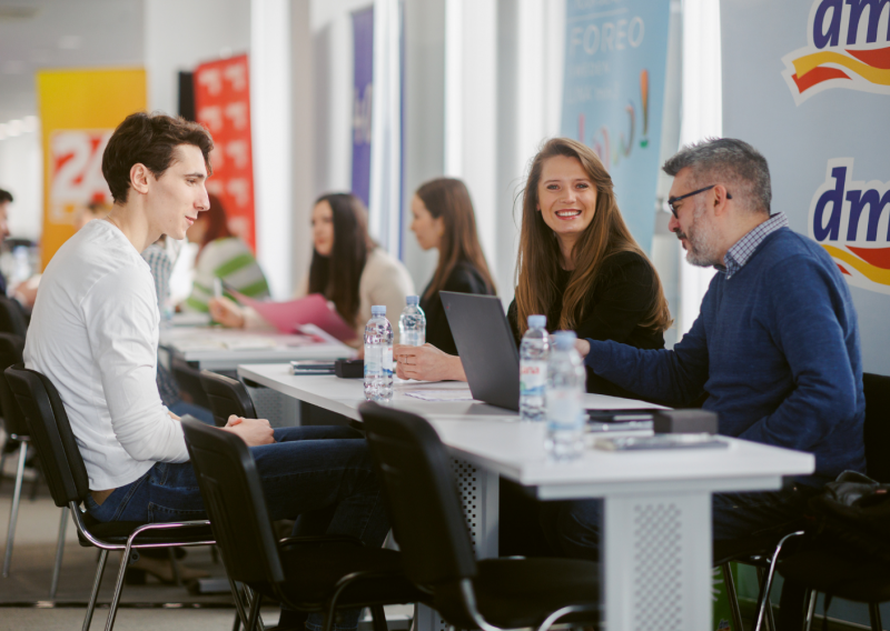
[[[732,198],[751,212],[770,212],[772,186],[767,159],[753,147],[734,138],[706,138],[669,158],[662,169],[675,178],[692,169],[696,187],[724,184]],[[705,181],[706,180],[706,181]]]

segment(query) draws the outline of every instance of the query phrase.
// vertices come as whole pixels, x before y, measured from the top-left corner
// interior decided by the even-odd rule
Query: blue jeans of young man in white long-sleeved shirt
[[[383,545],[389,523],[367,443],[358,432],[345,427],[279,428],[275,440],[250,448],[271,519],[309,518],[300,518],[295,528],[309,534],[305,523],[315,515],[316,528],[324,524],[327,533]],[[103,522],[207,519],[190,462],[158,462],[135,482],[116,489],[101,505],[91,497],[86,504],[90,515]],[[357,627],[359,610],[340,613],[335,629]],[[306,627],[320,631],[323,620],[313,613]]]

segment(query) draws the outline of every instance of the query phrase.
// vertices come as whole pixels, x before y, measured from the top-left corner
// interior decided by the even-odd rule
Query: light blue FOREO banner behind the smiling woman
[[[562,134],[600,156],[646,252],[655,228],[669,11],[666,0],[566,3]]]

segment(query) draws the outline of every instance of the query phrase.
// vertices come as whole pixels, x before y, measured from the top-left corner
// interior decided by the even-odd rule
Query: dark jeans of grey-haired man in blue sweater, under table
[[[819,489],[795,483],[765,493],[715,493],[711,501],[714,541],[750,537],[758,531],[791,524],[807,510]],[[602,500],[542,502],[541,525],[556,554],[600,560]]]

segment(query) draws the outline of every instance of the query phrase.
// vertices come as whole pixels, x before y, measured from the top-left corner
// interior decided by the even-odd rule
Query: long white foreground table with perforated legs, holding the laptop
[[[294,377],[283,364],[241,365],[238,372],[288,397],[359,418],[360,379]],[[465,384],[402,382],[393,404],[423,414],[453,454],[473,469],[468,475],[478,488],[479,523],[471,523],[476,553],[497,551],[497,474],[533,488],[542,500],[603,498],[603,598],[610,631],[712,630],[711,494],[777,490],[782,477],[809,474],[815,464],[808,453],[733,439],[726,439],[729,449],[587,450],[577,461],[553,463],[544,452],[542,424],[511,422],[515,413],[482,403],[407,397],[416,389],[461,388]],[[640,407],[639,401],[611,397],[593,404]],[[457,473],[461,487],[467,474]],[[444,628],[429,612],[418,623]]]

